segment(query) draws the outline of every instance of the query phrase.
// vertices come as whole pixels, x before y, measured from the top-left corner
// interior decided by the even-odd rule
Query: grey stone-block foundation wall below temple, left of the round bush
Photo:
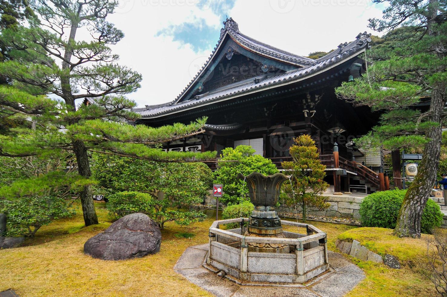
[[[328,216],[328,217],[340,217],[340,218],[350,218],[350,219],[359,219],[360,213],[358,210],[360,209],[360,204],[362,203],[363,198],[355,198],[355,197],[337,197],[336,195],[327,196],[326,202],[328,202],[331,206],[328,209],[323,211],[318,208],[306,208],[306,213],[308,215],[313,216]],[[303,209],[297,206],[298,213],[302,213]],[[289,212],[295,213],[295,208],[288,208],[280,206],[278,208],[279,213]]]

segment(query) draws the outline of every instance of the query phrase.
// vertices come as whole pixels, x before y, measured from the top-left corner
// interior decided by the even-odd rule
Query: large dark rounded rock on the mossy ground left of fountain
[[[103,260],[141,258],[160,251],[158,224],[141,212],[123,216],[84,244],[84,253]]]

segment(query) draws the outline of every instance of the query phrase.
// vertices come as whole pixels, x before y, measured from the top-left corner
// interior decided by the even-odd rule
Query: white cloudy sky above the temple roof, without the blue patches
[[[236,0],[229,12],[219,15],[207,5],[199,9],[196,1],[120,0],[117,13],[108,18],[125,34],[112,47],[121,56],[120,64],[143,75],[142,87],[127,95],[140,107],[172,101],[211,54],[212,48],[196,52],[190,44],[173,41],[171,36],[157,36],[168,26],[204,19],[206,25],[216,29],[214,47],[227,14],[239,24],[242,33],[308,55],[352,41],[359,32],[378,34],[367,28],[367,20],[382,14],[382,8],[370,0]]]

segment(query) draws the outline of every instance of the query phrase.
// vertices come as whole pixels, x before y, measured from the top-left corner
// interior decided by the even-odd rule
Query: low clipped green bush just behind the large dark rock
[[[148,216],[152,216],[154,205],[155,200],[147,193],[125,191],[110,195],[106,208],[115,217],[120,218],[134,212],[143,212]]]

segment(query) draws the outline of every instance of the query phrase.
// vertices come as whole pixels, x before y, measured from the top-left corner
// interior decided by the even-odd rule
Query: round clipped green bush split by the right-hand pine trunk
[[[367,195],[360,204],[360,216],[365,227],[396,228],[399,210],[405,198],[406,190],[375,192]],[[441,226],[443,213],[438,204],[428,199],[422,212],[421,232],[432,233],[434,227]]]

